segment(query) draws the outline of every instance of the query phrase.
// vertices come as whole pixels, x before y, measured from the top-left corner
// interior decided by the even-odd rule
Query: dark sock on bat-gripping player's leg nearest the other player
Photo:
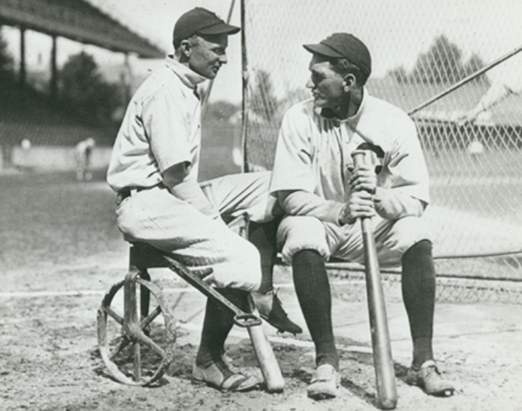
[[[320,254],[301,250],[292,258],[294,286],[313,344],[316,364],[331,364],[339,370],[331,319],[331,292],[327,270]]]

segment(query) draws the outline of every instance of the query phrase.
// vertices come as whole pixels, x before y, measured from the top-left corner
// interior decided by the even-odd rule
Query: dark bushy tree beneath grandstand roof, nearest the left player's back
[[[82,51],[72,55],[60,71],[60,96],[80,116],[97,123],[112,121],[121,103],[120,90],[98,72],[94,58]]]

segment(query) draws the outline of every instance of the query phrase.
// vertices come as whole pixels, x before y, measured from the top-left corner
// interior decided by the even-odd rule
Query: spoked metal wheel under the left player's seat
[[[102,300],[97,335],[112,376],[124,384],[147,386],[163,376],[173,358],[176,324],[160,288],[131,271]]]

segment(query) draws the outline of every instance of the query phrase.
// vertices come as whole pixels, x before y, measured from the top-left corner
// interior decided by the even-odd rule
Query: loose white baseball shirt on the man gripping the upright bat
[[[285,113],[270,191],[304,190],[326,200],[346,201],[351,153],[364,143],[379,163],[377,186],[429,202],[427,167],[413,121],[366,89],[357,113],[343,121],[314,107],[313,99]]]

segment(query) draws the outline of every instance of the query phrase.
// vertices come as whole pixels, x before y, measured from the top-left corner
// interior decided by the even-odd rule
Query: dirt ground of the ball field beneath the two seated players
[[[0,182],[4,194],[20,186],[6,181]],[[123,279],[128,258],[126,244],[114,232],[110,214],[113,199],[102,183],[87,187],[61,182],[58,189],[45,182],[45,190],[40,183],[29,184],[18,194],[18,199],[23,199],[17,206],[19,212],[23,208],[23,218],[16,217],[19,212],[0,210],[0,222],[10,233],[2,237],[1,254],[0,410],[377,409],[366,303],[347,298],[350,284],[334,277],[333,314],[342,375],[335,399],[313,401],[306,396],[313,369],[309,334],[281,336],[268,325],[263,327],[285,377],[283,393],[220,393],[193,386],[191,362],[198,346],[204,297],[191,288],[184,290],[182,280],[163,270],[153,273],[153,279],[163,288],[167,305],[172,308],[176,304],[174,362],[157,386],[115,382],[99,357],[96,338],[97,308],[110,285]],[[58,212],[43,221],[38,207],[48,201],[43,210],[50,210],[57,193],[61,193]],[[88,215],[73,203],[76,197],[86,201],[85,196],[97,204],[89,208]],[[70,201],[67,208],[64,201]],[[48,234],[56,230],[57,220],[67,221],[69,209],[82,215],[75,227],[86,227],[70,232],[63,224],[62,231]],[[92,223],[94,218],[102,222]],[[27,219],[29,222],[24,222]],[[30,251],[21,253],[19,242],[27,245],[24,236],[29,227],[40,232],[39,240],[30,244]],[[305,328],[289,273],[279,270],[276,283],[285,309]],[[438,304],[436,358],[444,377],[458,388],[450,398],[427,397],[405,384],[412,349],[407,319],[400,301],[391,299],[387,308],[399,395],[397,410],[522,410],[522,306]],[[227,350],[235,366],[260,376],[244,329],[235,327]]]

